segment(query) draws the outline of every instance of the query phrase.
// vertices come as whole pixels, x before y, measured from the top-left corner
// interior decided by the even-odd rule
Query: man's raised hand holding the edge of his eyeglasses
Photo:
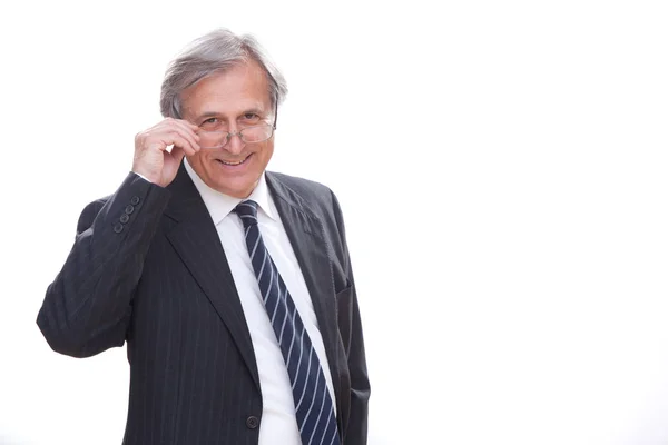
[[[168,186],[184,156],[199,151],[197,126],[187,120],[167,118],[135,136],[132,171],[160,186]],[[174,146],[171,152],[167,147]]]

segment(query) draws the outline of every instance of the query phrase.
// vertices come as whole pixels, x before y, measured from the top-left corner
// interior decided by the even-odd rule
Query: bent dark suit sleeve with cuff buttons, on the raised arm
[[[130,172],[107,200],[89,204],[37,324],[58,353],[89,357],[122,346],[132,294],[169,191]]]

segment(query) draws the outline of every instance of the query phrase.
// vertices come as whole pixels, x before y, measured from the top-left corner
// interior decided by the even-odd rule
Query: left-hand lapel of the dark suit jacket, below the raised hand
[[[183,164],[169,190],[171,199],[165,214],[177,224],[167,238],[227,326],[259,390],[248,325],[220,238]]]

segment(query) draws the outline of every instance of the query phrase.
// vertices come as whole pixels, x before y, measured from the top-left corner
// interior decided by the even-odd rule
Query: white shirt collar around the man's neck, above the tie
[[[195,184],[197,191],[199,191],[202,200],[209,211],[215,225],[218,225],[227,215],[229,215],[230,211],[235,209],[239,202],[245,200],[222,194],[207,186],[204,180],[202,180],[199,175],[197,175],[197,172],[193,169],[190,164],[188,164],[188,159],[184,159],[184,165],[186,167],[186,171],[190,176],[190,179],[193,179],[193,184]],[[274,220],[278,219],[276,208],[274,207],[274,202],[269,196],[269,189],[267,187],[264,171],[259,177],[257,186],[255,186],[255,189],[253,189],[253,192],[246,199],[252,199],[257,202],[259,210],[269,218]]]

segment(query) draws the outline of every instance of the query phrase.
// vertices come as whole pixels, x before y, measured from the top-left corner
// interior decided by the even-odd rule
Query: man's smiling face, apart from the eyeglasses
[[[244,128],[273,123],[266,73],[256,62],[238,65],[209,76],[181,93],[184,119],[202,129],[235,134]],[[233,136],[222,148],[202,148],[188,162],[202,180],[225,195],[247,198],[274,152],[274,136],[246,144]]]

